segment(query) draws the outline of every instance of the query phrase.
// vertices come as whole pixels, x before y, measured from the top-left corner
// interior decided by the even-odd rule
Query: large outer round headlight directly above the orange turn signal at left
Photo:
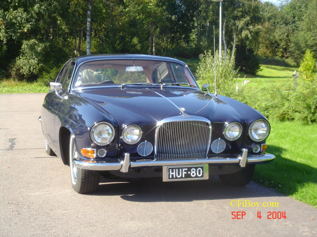
[[[91,130],[90,137],[94,143],[100,146],[108,145],[113,140],[114,128],[106,122],[95,124]]]

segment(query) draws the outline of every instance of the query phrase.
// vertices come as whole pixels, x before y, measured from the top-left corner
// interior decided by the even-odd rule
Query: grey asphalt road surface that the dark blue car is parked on
[[[97,193],[76,193],[45,153],[44,96],[0,94],[1,236],[317,236],[317,209],[254,182],[102,178]]]

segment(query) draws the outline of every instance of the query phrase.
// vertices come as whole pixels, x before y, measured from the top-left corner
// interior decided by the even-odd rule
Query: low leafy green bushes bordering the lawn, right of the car
[[[295,120],[302,124],[317,122],[317,76],[312,81],[300,80],[298,86],[276,89],[240,87],[232,98],[261,112],[268,119]]]

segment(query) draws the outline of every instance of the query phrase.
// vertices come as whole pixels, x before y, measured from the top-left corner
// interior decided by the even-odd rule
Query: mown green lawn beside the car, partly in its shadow
[[[270,123],[267,152],[276,159],[257,165],[254,181],[317,208],[317,124]]]

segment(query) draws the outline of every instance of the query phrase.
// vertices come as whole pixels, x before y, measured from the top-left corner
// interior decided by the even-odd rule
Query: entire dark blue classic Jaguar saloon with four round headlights
[[[207,86],[207,85],[204,85]],[[198,87],[183,62],[148,55],[70,59],[44,99],[48,155],[70,166],[78,193],[104,176],[250,182],[265,153],[267,119],[253,108]]]

